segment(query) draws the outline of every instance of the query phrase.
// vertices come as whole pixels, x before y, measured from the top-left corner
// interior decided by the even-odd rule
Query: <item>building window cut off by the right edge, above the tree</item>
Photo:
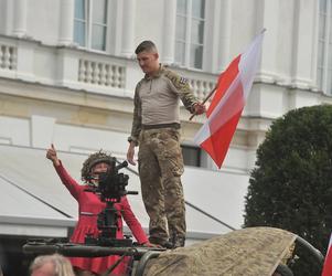
[[[332,0],[319,2],[319,41],[317,83],[332,95]]]

